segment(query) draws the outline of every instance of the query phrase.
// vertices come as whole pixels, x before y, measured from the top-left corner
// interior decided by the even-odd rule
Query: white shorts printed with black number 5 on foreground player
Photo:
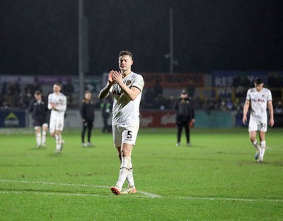
[[[114,147],[121,147],[122,143],[135,145],[139,123],[112,125]]]

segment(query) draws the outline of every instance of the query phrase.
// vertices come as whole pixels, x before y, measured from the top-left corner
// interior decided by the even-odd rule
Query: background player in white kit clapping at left
[[[60,93],[62,84],[55,83],[53,92],[48,96],[48,109],[51,110],[50,114],[50,135],[55,137],[56,151],[59,153],[64,145],[62,140],[62,130],[64,128],[64,115],[67,108],[67,97]]]

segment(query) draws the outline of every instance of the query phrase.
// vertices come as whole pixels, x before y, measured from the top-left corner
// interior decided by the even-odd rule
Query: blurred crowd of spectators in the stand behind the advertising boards
[[[267,88],[272,91],[273,106],[275,113],[283,113],[282,107],[282,91],[280,86],[283,84],[283,79],[270,76],[267,79]],[[207,98],[197,94],[199,89],[196,89],[193,82],[187,86],[187,94],[193,102],[195,109],[207,111],[242,111],[246,101],[246,91],[250,86],[250,81],[247,78],[235,77],[232,86],[225,88],[217,88],[213,92],[217,94],[214,98]],[[51,87],[50,87],[51,89]],[[272,90],[275,89],[275,90]],[[0,94],[0,108],[28,108],[30,100],[33,99],[35,91],[41,91],[43,96],[48,96],[51,92],[44,93],[40,84],[27,84],[22,87],[18,82],[2,83]],[[69,107],[78,108],[79,102],[74,101],[74,85],[71,81],[63,86],[63,93],[67,96]],[[165,96],[164,89],[158,82],[155,83],[152,89],[145,89],[143,98],[141,98],[141,109],[169,110],[173,108],[175,96]],[[212,93],[212,94],[213,94]],[[100,108],[100,101],[96,101],[96,108]]]

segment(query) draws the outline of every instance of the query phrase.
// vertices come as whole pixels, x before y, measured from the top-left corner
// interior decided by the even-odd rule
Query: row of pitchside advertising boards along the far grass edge
[[[141,128],[175,128],[175,111],[141,111]],[[101,111],[95,111],[95,128],[103,128]],[[275,113],[275,127],[283,127],[283,113]],[[242,122],[243,113],[237,111],[195,111],[194,128],[237,128],[248,127]],[[110,124],[111,119],[109,119]],[[28,111],[6,108],[0,109],[0,128],[33,127]],[[68,110],[64,128],[81,128],[81,115],[78,110]]]

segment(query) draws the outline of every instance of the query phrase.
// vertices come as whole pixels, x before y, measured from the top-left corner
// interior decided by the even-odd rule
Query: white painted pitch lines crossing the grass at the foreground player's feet
[[[71,184],[71,183],[47,183],[39,181],[11,181],[11,180],[0,180],[0,182],[6,183],[41,183],[45,185],[59,185],[59,186],[84,186],[84,187],[96,187],[96,188],[109,188],[109,186],[96,186],[96,185],[87,185],[87,184]],[[14,193],[14,194],[37,194],[37,195],[53,195],[53,196],[102,196],[100,194],[88,194],[88,193],[45,193],[45,192],[29,192],[29,191],[0,191],[0,193]],[[159,196],[154,193],[146,193],[143,191],[137,191],[144,196],[140,195],[123,195],[131,197],[144,197],[144,198],[173,198],[173,199],[183,199],[183,200],[227,200],[227,201],[246,201],[246,202],[279,202],[282,203],[283,199],[266,199],[266,198],[213,198],[213,197],[195,197],[195,196],[183,196],[183,197],[168,197],[168,196]]]

